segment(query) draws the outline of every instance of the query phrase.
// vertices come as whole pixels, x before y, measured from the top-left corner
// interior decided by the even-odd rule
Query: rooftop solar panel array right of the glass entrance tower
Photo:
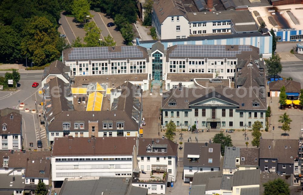
[[[237,54],[241,50],[226,51],[225,45],[178,45],[169,57],[236,57]]]

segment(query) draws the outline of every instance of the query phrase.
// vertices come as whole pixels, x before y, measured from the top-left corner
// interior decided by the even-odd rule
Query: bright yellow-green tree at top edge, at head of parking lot
[[[72,14],[75,16],[78,22],[83,23],[85,19],[93,17],[89,13],[90,5],[88,0],[74,0],[72,5]],[[90,17],[86,17],[90,15]]]

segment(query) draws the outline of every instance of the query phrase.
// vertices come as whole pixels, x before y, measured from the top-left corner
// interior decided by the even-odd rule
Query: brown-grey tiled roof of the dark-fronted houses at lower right
[[[268,146],[270,146],[270,148]],[[285,146],[287,146],[287,148],[285,148]],[[259,158],[278,159],[278,163],[292,164],[298,155],[298,148],[298,140],[260,139]]]

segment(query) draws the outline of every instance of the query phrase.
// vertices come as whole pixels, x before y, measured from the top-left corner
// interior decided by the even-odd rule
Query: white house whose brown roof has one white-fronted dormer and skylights
[[[184,143],[184,183],[191,183],[194,173],[219,171],[221,157],[219,143]]]

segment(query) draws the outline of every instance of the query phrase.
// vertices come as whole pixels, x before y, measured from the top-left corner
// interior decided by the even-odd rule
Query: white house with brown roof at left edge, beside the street
[[[22,150],[22,115],[18,110],[0,112],[0,150]]]

